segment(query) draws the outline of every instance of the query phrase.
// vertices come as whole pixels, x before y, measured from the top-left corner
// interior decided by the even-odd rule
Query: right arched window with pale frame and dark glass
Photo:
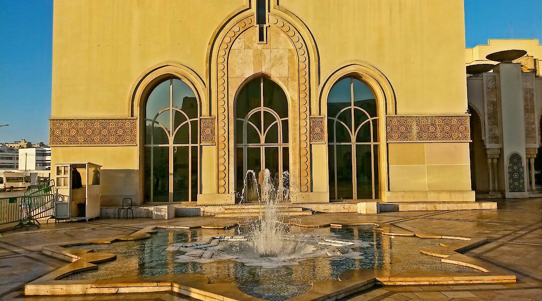
[[[330,198],[378,199],[378,115],[375,94],[349,76],[327,99]]]

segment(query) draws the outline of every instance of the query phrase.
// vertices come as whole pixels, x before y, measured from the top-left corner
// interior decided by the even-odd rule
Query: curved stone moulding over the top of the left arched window
[[[202,78],[189,67],[176,62],[163,62],[143,71],[130,89],[128,110],[132,117],[139,117],[140,106],[154,84],[167,76],[178,77],[186,82],[198,97],[201,116],[209,116],[207,87]]]

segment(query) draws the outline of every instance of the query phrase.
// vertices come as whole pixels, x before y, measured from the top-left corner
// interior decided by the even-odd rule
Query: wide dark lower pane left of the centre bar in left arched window
[[[152,202],[169,201],[169,148],[153,146],[152,159]]]

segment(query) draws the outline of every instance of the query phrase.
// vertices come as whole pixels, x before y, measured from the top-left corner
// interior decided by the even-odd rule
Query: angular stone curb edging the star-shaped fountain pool
[[[234,224],[233,226],[235,226]],[[291,224],[296,225],[296,224]],[[353,293],[370,289],[375,285],[435,285],[435,284],[473,284],[473,283],[509,283],[515,282],[515,275],[499,267],[485,263],[481,260],[465,256],[469,248],[478,246],[487,241],[483,238],[455,237],[437,234],[413,233],[393,225],[379,225],[376,223],[330,223],[326,226],[345,227],[357,225],[374,226],[373,229],[383,235],[416,236],[419,238],[453,239],[455,242],[441,244],[438,248],[420,250],[429,256],[440,257],[442,263],[459,264],[473,267],[481,272],[447,273],[411,270],[408,272],[394,272],[386,270],[350,270],[339,275],[339,281],[313,282],[312,288],[301,296],[290,300],[337,300]],[[296,225],[307,226],[307,225]],[[321,225],[320,225],[321,226]],[[129,235],[94,239],[85,242],[43,247],[43,253],[56,258],[71,261],[69,264],[25,285],[25,295],[81,295],[93,293],[137,293],[137,292],[165,292],[173,291],[185,296],[200,300],[262,300],[247,295],[238,289],[235,283],[209,284],[208,278],[199,274],[175,274],[152,278],[113,278],[106,280],[57,280],[69,274],[97,269],[96,264],[114,260],[115,254],[95,253],[91,249],[76,249],[69,246],[88,244],[111,244],[117,240],[137,240],[151,237],[156,228],[161,226],[148,226]],[[231,226],[201,226],[202,228],[228,228]],[[164,226],[163,228],[197,228],[185,226]]]

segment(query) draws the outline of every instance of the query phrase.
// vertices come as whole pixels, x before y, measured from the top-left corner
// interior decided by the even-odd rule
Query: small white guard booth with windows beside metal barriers
[[[89,220],[100,217],[101,165],[57,163],[55,219]]]

